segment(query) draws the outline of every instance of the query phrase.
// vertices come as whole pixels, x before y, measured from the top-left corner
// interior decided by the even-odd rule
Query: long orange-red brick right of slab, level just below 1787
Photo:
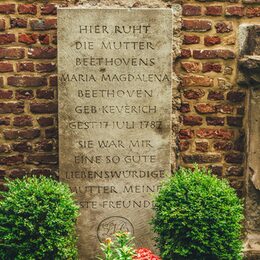
[[[228,129],[202,128],[196,131],[199,138],[230,140],[234,137],[234,131]]]

